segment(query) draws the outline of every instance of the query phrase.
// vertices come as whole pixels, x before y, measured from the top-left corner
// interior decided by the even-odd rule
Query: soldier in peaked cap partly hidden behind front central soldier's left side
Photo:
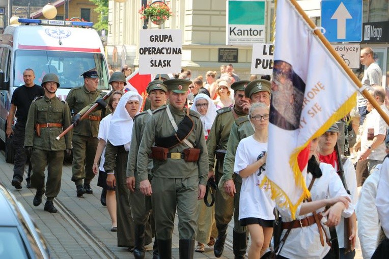
[[[132,208],[132,217],[135,222],[135,247],[134,257],[144,258],[145,243],[147,238],[152,238],[150,229],[155,233],[155,224],[151,216],[151,197],[145,196],[139,188],[139,179],[136,170],[136,160],[139,145],[141,143],[142,135],[144,134],[146,122],[152,116],[152,111],[161,107],[166,103],[166,92],[168,89],[161,80],[154,80],[149,83],[146,89],[151,101],[151,109],[141,112],[134,119],[134,127],[132,129],[131,147],[128,152],[127,162],[127,187],[131,190],[130,204]],[[153,168],[153,160],[149,159],[148,174],[151,176],[151,169]],[[136,180],[136,182],[135,182]],[[145,235],[146,234],[146,235]],[[158,255],[157,239],[154,240],[153,254]]]

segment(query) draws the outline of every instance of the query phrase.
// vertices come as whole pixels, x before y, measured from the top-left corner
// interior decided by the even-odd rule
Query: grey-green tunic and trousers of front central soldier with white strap
[[[137,172],[139,181],[148,179],[148,158],[155,137],[168,137],[175,134],[169,121],[166,109],[170,109],[177,125],[184,119],[185,110],[177,110],[170,105],[162,106],[153,112],[146,123],[141,145],[138,151]],[[206,185],[208,175],[208,152],[200,114],[190,110],[194,122],[193,130],[187,140],[194,148],[200,149],[197,162],[185,162],[184,159],[166,161],[153,160],[151,196],[155,215],[156,234],[160,240],[171,240],[174,228],[174,217],[177,210],[179,223],[179,239],[188,240],[196,237],[197,231],[197,196],[198,185]],[[183,153],[187,149],[185,143],[179,143],[169,152]]]

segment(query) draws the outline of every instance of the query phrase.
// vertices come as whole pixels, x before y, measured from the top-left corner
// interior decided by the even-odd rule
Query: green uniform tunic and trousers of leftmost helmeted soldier
[[[35,124],[58,123],[62,127],[42,127],[37,136]],[[46,196],[52,200],[61,189],[62,163],[64,150],[71,149],[71,132],[60,140],[55,139],[70,125],[70,110],[65,101],[58,97],[51,99],[46,96],[36,98],[29,110],[25,128],[24,146],[33,147],[31,165],[33,174],[31,186],[44,188],[45,167],[47,165]]]

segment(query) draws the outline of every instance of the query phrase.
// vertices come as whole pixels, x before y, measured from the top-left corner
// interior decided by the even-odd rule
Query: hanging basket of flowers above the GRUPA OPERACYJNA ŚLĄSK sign
[[[154,24],[162,24],[172,16],[170,8],[162,1],[155,1],[139,10],[141,19],[150,19]]]

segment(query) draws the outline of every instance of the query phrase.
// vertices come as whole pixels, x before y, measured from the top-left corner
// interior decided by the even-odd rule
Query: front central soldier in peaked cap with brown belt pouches
[[[170,103],[153,111],[138,151],[140,189],[143,194],[151,195],[160,258],[172,257],[177,208],[180,258],[193,258],[197,202],[204,197],[207,183],[208,153],[203,124],[199,113],[184,108],[190,83],[185,79],[164,81]],[[149,155],[153,158],[151,184]]]

